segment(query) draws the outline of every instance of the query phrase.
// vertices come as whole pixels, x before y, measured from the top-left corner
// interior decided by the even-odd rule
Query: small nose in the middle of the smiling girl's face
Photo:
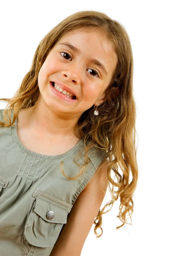
[[[80,70],[78,68],[78,65],[72,64],[68,67],[68,69],[65,69],[62,71],[62,75],[67,77],[68,81],[73,81],[74,83],[80,84]]]

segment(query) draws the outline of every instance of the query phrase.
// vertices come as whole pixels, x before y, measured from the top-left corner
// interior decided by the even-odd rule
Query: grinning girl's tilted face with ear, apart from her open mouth
[[[90,58],[96,59],[103,68]],[[42,102],[56,113],[81,116],[91,106],[104,102],[104,90],[116,64],[116,53],[99,32],[75,30],[63,35],[49,52],[38,75]],[[74,91],[77,99],[67,101],[57,96],[51,81],[61,81]]]

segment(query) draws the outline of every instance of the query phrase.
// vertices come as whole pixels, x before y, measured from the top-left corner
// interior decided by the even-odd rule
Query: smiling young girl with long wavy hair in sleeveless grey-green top
[[[136,106],[120,23],[95,11],[65,18],[40,42],[12,99],[0,100],[8,102],[0,110],[0,255],[80,256],[119,196],[117,228],[127,223],[138,180]],[[111,201],[100,209],[107,188]]]

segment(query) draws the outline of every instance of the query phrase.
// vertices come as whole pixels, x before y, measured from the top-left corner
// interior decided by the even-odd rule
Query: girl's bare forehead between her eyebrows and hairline
[[[112,73],[117,64],[117,55],[113,49],[111,41],[108,40],[104,33],[99,31],[73,30],[63,35],[57,46],[61,43],[70,43],[77,48],[77,54],[84,58],[91,59],[92,57],[102,62],[108,73]],[[68,48],[68,47],[66,47]],[[68,48],[69,49],[69,48]],[[75,50],[74,50],[75,51]]]

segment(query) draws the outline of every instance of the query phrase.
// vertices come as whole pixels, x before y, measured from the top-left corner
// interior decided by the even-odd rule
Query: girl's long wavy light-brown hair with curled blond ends
[[[84,143],[87,139],[90,140],[90,143],[85,147],[86,163],[89,162],[88,150],[92,147],[102,150],[106,155],[97,171],[99,172],[101,168],[105,168],[108,174],[111,201],[99,210],[94,221],[94,233],[97,237],[100,237],[103,233],[101,227],[102,214],[111,210],[114,201],[119,196],[120,206],[117,217],[122,221],[122,225],[116,227],[116,229],[119,229],[125,223],[129,224],[126,214],[133,214],[133,194],[138,181],[137,148],[135,144],[136,104],[133,96],[133,54],[130,39],[124,26],[118,21],[112,20],[105,13],[96,11],[76,12],[62,20],[45,35],[38,45],[31,68],[23,78],[14,96],[11,99],[0,99],[8,102],[4,110],[6,122],[0,122],[0,126],[9,127],[13,125],[21,108],[34,106],[40,94],[38,74],[42,64],[57,41],[67,32],[74,31],[75,28],[82,31],[99,31],[101,36],[107,36],[118,59],[116,70],[114,69],[112,79],[105,90],[106,100],[97,108],[99,115],[94,116],[94,108],[89,108],[80,116],[76,130]],[[10,117],[12,110],[13,120]],[[116,176],[117,182],[111,177],[113,174]],[[131,181],[130,175],[132,177]],[[113,190],[115,187],[118,187],[117,191]],[[110,206],[111,208],[104,212],[105,208]],[[97,228],[102,230],[100,235],[96,232]]]

